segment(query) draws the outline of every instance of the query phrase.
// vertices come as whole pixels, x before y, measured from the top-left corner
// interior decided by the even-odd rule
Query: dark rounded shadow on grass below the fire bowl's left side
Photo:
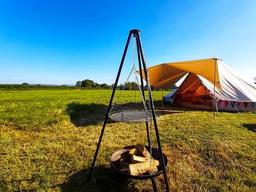
[[[87,181],[89,171],[90,168],[78,171],[70,176],[60,188],[63,192],[133,191],[130,180],[120,176],[111,167],[95,166],[92,178]]]

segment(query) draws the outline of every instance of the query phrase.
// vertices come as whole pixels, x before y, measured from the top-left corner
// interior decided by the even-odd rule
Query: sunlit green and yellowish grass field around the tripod
[[[161,92],[153,94],[159,110]],[[152,191],[151,181],[120,178],[110,167],[116,149],[146,144],[144,124],[107,124],[86,181],[110,95],[0,91],[0,191]],[[119,101],[133,96],[124,91]],[[165,107],[158,125],[171,191],[256,191],[256,114],[219,112],[213,119],[212,112]],[[156,181],[164,191],[164,178]]]

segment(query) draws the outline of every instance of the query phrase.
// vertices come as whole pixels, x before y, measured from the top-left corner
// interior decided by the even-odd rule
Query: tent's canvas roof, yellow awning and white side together
[[[188,72],[197,75],[210,95],[215,94],[218,99],[256,102],[256,86],[240,78],[238,73],[218,58],[155,65],[149,68],[150,85],[171,88]]]

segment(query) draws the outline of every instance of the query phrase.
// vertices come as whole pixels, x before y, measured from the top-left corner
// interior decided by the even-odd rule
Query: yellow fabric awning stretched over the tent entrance
[[[215,82],[215,86],[221,90],[218,75],[218,63],[215,58],[202,60],[189,60],[175,63],[163,63],[155,65],[149,70],[149,82],[153,87],[171,88],[186,73],[194,73],[206,78],[209,82]],[[143,78],[144,73],[142,74]]]

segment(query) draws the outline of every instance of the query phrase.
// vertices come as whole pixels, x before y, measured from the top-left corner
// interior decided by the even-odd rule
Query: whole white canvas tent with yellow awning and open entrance
[[[165,101],[202,109],[210,109],[215,103],[218,110],[255,111],[256,86],[240,78],[219,58],[163,63],[149,68],[150,85],[165,90],[185,75],[178,89],[164,97]]]

